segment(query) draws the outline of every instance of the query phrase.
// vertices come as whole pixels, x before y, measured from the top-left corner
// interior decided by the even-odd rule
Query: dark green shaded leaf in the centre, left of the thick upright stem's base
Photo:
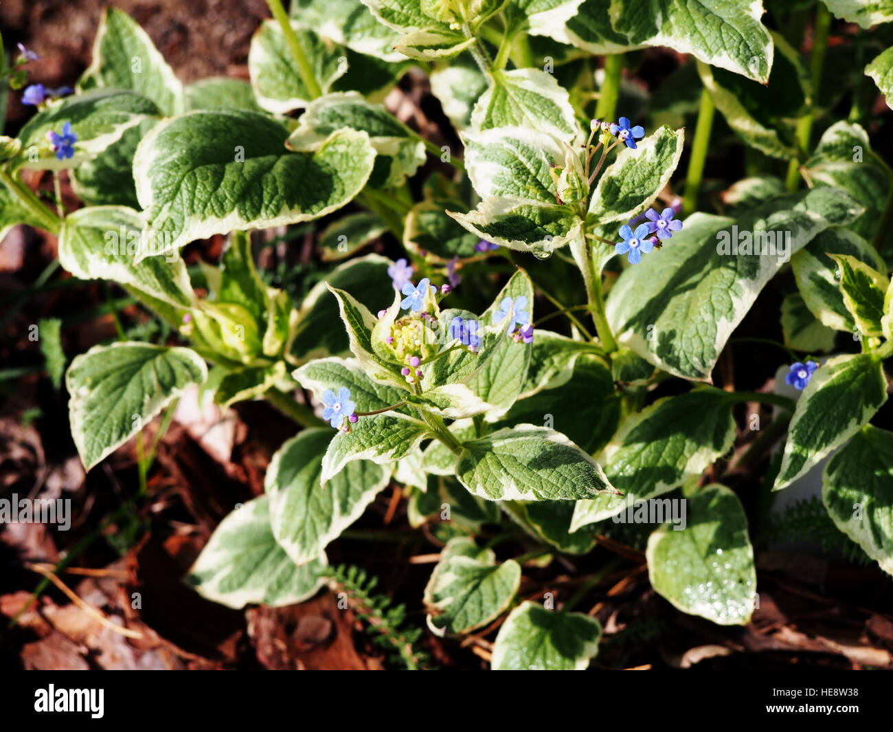
[[[539,332],[534,336],[534,342]],[[582,450],[593,453],[605,446],[620,422],[621,395],[614,389],[611,370],[601,358],[575,359],[571,378],[562,384],[517,400],[497,423],[544,423],[566,434]]]

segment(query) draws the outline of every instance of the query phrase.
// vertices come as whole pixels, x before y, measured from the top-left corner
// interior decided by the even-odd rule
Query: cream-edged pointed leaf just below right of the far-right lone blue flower
[[[870,353],[820,367],[797,400],[773,491],[787,488],[857,433],[887,401],[887,378]]]

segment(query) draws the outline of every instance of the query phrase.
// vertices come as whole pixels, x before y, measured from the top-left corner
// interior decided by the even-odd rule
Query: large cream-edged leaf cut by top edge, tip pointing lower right
[[[773,47],[763,13],[762,0],[586,0],[557,38],[591,54],[668,46],[765,82]]]

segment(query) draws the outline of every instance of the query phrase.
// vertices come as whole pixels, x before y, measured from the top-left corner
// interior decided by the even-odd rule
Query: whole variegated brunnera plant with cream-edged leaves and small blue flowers
[[[830,123],[814,143],[821,75],[764,24],[760,2],[269,4],[250,84],[183,84],[109,9],[74,92],[29,86],[36,114],[0,140],[0,229],[53,233],[68,272],[116,282],[178,336],[74,358],[71,433],[85,467],[195,384],[224,408],[270,400],[301,427],[263,497],[233,511],[196,561],[199,593],[231,607],[311,596],[333,581],[327,545],[394,483],[413,526],[439,519],[447,542],[422,598],[431,632],[507,614],[493,668],[581,669],[597,621],[573,602],[520,602],[522,561],[497,561],[475,537],[518,526],[543,552],[585,554],[605,522],[676,496],[686,520],[647,540],[652,585],[684,612],[746,624],[745,512],[705,480],[755,429],[736,421],[746,402],[789,420],[765,476],[774,490],[837,450],[825,505],[893,574],[893,434],[869,424],[893,355],[891,174],[857,122]],[[864,28],[893,20],[858,0],[815,13],[814,54],[830,13]],[[624,54],[648,46],[691,55],[680,73],[703,86],[687,103],[697,126],[684,203],[672,194],[680,113],[656,97],[629,116],[620,106]],[[4,69],[13,88],[29,54]],[[857,71],[889,95],[891,64],[888,50]],[[428,74],[461,149],[381,104],[406,72]],[[696,213],[716,111],[789,174],[738,181],[721,214]],[[433,172],[411,189],[429,156]],[[54,212],[21,182],[27,169],[67,171],[83,206]],[[338,265],[296,301],[258,273],[247,232],[323,217],[322,258]],[[360,253],[385,231],[405,257]],[[229,236],[221,261],[190,271],[181,248],[214,234]],[[730,336],[782,270],[796,290],[781,309],[791,358],[780,381],[798,399],[714,387]],[[544,284],[569,279],[560,299]],[[540,325],[546,301],[570,335]],[[825,358],[835,332],[859,352]],[[654,399],[668,380],[688,387]]]

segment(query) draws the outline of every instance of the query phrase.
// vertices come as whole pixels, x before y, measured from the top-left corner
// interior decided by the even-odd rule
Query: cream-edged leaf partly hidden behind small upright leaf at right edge
[[[855,332],[853,316],[843,300],[838,281],[838,265],[830,255],[847,255],[877,270],[885,270],[883,260],[862,237],[847,229],[822,231],[802,248],[790,264],[797,289],[806,307],[822,324],[838,331]]]

